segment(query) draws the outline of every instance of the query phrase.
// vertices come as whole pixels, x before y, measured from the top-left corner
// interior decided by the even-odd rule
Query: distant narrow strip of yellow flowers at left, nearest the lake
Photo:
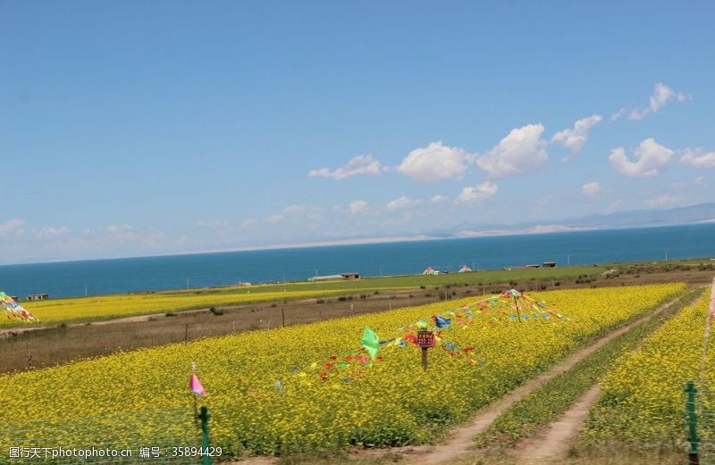
[[[286,299],[311,298],[343,294],[342,290],[251,292],[240,288],[224,293],[157,292],[147,294],[97,295],[94,297],[23,302],[40,323],[57,323],[72,320],[106,320],[116,317],[146,315],[163,311],[181,311],[240,303],[270,302]],[[16,320],[0,319],[0,326],[20,326]]]

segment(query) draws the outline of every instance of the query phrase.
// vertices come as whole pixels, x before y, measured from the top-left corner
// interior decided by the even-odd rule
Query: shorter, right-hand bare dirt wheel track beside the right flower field
[[[552,462],[565,458],[599,394],[601,386],[592,386],[541,434],[518,444],[512,454],[521,460],[520,463],[528,462],[534,465],[542,461]]]

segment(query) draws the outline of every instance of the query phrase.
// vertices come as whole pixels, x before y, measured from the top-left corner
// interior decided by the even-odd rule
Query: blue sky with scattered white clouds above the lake
[[[0,262],[711,202],[713,22],[710,2],[0,2]]]

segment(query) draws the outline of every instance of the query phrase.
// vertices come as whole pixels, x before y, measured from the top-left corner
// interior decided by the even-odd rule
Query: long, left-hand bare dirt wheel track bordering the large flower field
[[[677,298],[669,301],[668,303],[663,303],[655,311],[652,311],[651,313],[648,313],[647,315],[637,320],[633,320],[630,323],[627,323],[626,325],[623,325],[620,328],[614,329],[610,333],[601,336],[601,338],[596,340],[592,345],[588,345],[580,351],[572,354],[564,361],[560,361],[559,363],[551,367],[550,370],[546,371],[539,377],[527,382],[525,385],[517,387],[515,390],[511,391],[509,394],[503,397],[501,401],[492,404],[484,411],[478,413],[467,426],[453,429],[450,432],[449,439],[444,443],[430,448],[412,448],[409,451],[411,455],[411,459],[409,462],[415,464],[446,464],[452,461],[457,461],[458,459],[463,458],[468,453],[473,453],[473,444],[475,436],[489,428],[492,422],[497,419],[497,417],[499,417],[502,411],[505,411],[511,405],[517,403],[535,389],[538,389],[539,387],[543,386],[547,381],[551,380],[551,378],[555,378],[557,375],[570,370],[578,361],[584,360],[585,357],[601,348],[602,345],[608,343],[614,337],[622,335],[633,326],[652,318],[652,316],[656,313],[664,311],[672,305],[676,304],[682,299],[682,297],[683,295],[680,295]],[[423,453],[422,451],[425,452]]]

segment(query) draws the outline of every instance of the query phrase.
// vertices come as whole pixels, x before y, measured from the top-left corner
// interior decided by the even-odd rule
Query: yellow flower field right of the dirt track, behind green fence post
[[[601,399],[582,435],[585,446],[632,444],[639,448],[681,446],[687,437],[685,394],[698,383],[710,289],[662,326],[635,352],[624,354],[601,383]],[[713,411],[715,351],[705,361],[706,410]],[[711,416],[711,413],[709,413]],[[712,439],[712,423],[701,435]]]

